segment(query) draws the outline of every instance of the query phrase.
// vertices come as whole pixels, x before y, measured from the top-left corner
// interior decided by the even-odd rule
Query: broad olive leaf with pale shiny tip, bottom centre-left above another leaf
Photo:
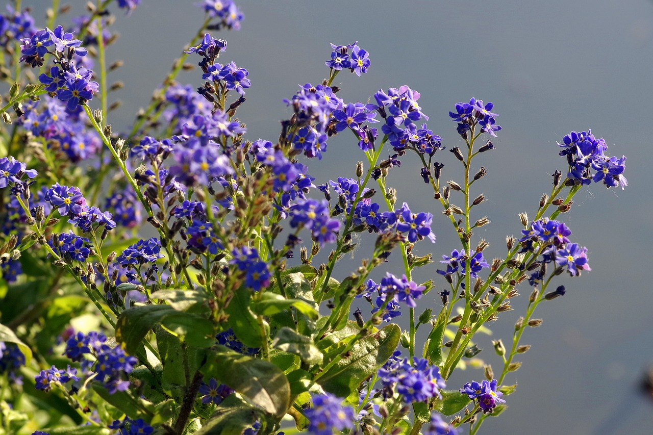
[[[204,375],[228,385],[266,412],[283,417],[291,404],[290,385],[283,372],[272,362],[218,348],[209,353]]]

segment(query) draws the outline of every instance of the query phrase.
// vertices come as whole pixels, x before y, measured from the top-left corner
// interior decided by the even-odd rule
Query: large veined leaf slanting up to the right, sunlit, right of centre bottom
[[[399,344],[401,330],[390,324],[374,334],[358,340],[347,357],[330,368],[317,383],[329,393],[347,397],[364,379],[379,370]]]

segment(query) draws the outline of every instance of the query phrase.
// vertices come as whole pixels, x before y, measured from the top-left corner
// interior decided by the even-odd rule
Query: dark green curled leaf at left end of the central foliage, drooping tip
[[[150,329],[174,312],[174,308],[169,305],[141,305],[129,308],[118,317],[116,341],[125,344],[127,353],[135,355],[140,342]]]

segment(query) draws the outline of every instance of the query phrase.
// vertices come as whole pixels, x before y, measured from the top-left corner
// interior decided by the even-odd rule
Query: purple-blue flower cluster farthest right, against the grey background
[[[591,129],[581,133],[572,131],[562,138],[562,144],[558,146],[564,148],[560,155],[567,156],[570,167],[567,178],[573,182],[582,185],[603,182],[605,187],[621,185],[622,189],[628,185],[624,176],[626,156],[605,155],[608,148],[605,140],[594,137]],[[592,169],[596,171],[594,174]]]

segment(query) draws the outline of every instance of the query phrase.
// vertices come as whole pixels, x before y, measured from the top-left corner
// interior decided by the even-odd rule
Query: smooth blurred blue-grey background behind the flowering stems
[[[33,5],[40,20],[49,2]],[[84,1],[69,1],[77,10]],[[242,31],[221,32],[229,42],[221,61],[235,61],[250,71],[247,103],[238,109],[250,139],[275,140],[278,121],[288,112],[281,102],[299,84],[319,82],[328,73],[328,42],[358,40],[370,52],[372,67],[358,78],[338,76],[340,97],[366,102],[379,88],[407,84],[421,92],[420,104],[430,129],[447,148],[460,145],[447,112],[458,101],[492,101],[503,126],[496,151],[482,155],[488,175],[473,193],[485,193],[479,206],[492,221],[477,233],[492,244],[486,257],[505,255],[506,234],[519,231],[518,212],[533,216],[541,193],[550,191],[550,174],[564,170],[556,141],[571,130],[592,128],[604,137],[611,155],[628,156],[625,191],[601,185],[583,189],[571,212],[563,215],[573,241],[588,246],[592,272],[558,282],[567,295],[543,304],[538,329],[524,334],[532,349],[524,365],[507,377],[518,383],[500,418],[486,421],[483,434],[648,434],[653,402],[638,389],[653,362],[653,295],[650,289],[652,202],[649,190],[649,130],[653,99],[653,2],[648,0],[498,1],[253,1],[237,2],[246,15]],[[125,82],[112,96],[123,101],[110,114],[116,129],[130,125],[146,106],[151,91],[195,35],[203,14],[195,1],[143,0],[129,17],[118,12],[114,29],[121,34],[108,51],[109,61],[125,66],[110,78]],[[65,22],[65,20],[64,20]],[[42,25],[43,21],[37,23]],[[195,62],[195,59],[192,59]],[[182,81],[201,83],[199,72]],[[311,163],[317,182],[352,176],[362,159],[355,143],[329,143],[319,165]],[[441,155],[444,177],[462,182],[451,154]],[[421,242],[416,251],[433,250],[436,259],[458,248],[451,224],[419,178],[415,158],[393,170],[399,201],[436,218],[438,242]],[[476,210],[476,209],[475,209]],[[360,255],[367,251],[361,248]],[[417,278],[435,277],[430,265]],[[391,268],[394,266],[390,266]],[[399,269],[394,267],[394,272]],[[437,280],[437,278],[436,278]],[[438,281],[441,287],[442,282]],[[521,289],[522,298],[530,293]],[[436,295],[422,307],[438,309]],[[493,338],[510,342],[516,310],[490,325]],[[421,310],[419,310],[421,311]],[[479,355],[498,370],[500,361],[489,339]],[[458,388],[481,379],[479,371],[451,379]],[[460,385],[458,385],[460,384]]]

